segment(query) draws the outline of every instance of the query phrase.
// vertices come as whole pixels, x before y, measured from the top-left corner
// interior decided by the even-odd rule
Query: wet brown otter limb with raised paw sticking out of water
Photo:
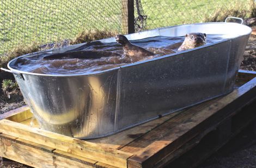
[[[124,49],[124,54],[127,56],[137,57],[138,60],[141,60],[144,57],[154,55],[154,53],[151,53],[150,51],[142,47],[139,47],[130,43],[130,41],[124,35],[115,36],[115,40],[117,40],[118,43],[122,44]]]

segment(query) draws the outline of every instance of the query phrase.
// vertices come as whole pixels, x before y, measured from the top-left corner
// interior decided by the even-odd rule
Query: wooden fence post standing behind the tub
[[[135,33],[134,27],[134,0],[121,0],[122,1],[122,33],[131,34]]]

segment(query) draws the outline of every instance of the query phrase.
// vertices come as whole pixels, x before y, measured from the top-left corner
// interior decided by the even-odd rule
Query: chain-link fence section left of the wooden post
[[[74,38],[83,30],[120,31],[121,1],[1,0],[0,54],[21,43]]]

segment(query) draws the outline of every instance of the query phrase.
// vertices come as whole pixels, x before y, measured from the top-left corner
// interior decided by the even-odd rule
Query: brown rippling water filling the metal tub
[[[183,37],[156,36],[131,43],[150,50],[155,55],[142,60],[124,55],[123,47],[118,43],[90,42],[69,53],[41,54],[33,57],[22,57],[13,66],[14,69],[39,74],[86,74],[124,66],[137,61],[172,54],[177,51]],[[221,35],[207,35],[206,44],[223,40]]]

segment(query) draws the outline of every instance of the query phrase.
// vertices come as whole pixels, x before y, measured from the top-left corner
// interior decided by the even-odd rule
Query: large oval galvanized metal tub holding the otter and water
[[[127,38],[175,37],[193,32],[227,39],[83,75],[21,72],[11,68],[16,59],[8,68],[41,128],[80,139],[98,138],[233,91],[251,28],[237,23],[202,23],[149,30]],[[81,45],[46,52],[63,53]]]

